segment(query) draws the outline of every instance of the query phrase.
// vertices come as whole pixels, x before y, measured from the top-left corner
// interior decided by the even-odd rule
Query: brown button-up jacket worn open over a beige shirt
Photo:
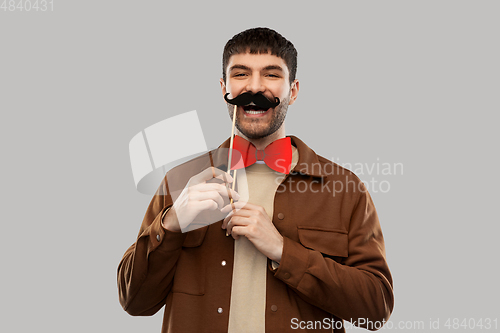
[[[394,297],[372,199],[352,172],[291,139],[299,161],[274,200],[272,221],[284,244],[279,267],[268,260],[266,332],[344,332],[343,320],[379,328]],[[227,332],[233,238],[221,221],[187,233],[161,226],[171,188],[182,188],[214,159],[224,156],[215,152],[211,162],[207,154],[165,177],[118,267],[125,311],[147,316],[165,306],[162,332]]]

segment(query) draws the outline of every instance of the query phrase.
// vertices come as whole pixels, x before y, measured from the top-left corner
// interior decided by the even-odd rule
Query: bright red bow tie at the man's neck
[[[258,150],[251,142],[234,136],[233,149],[241,153],[241,158],[233,154],[231,170],[246,168],[257,161],[264,161],[274,171],[288,174],[292,164],[292,141],[282,138],[271,142],[264,150]]]

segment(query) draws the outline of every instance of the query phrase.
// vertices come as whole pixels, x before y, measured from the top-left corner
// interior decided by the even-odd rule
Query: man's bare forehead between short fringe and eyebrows
[[[274,69],[280,69],[288,73],[288,67],[285,61],[275,56],[271,53],[238,53],[233,54],[229,58],[227,70],[230,71],[232,68],[239,68],[240,66],[248,67],[252,70],[262,70],[270,67]]]

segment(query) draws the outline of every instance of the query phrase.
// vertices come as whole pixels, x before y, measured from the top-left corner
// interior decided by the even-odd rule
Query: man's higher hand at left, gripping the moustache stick
[[[224,183],[207,183],[213,178],[220,179]],[[202,211],[220,210],[224,207],[224,198],[229,197],[228,187],[225,184],[232,182],[233,178],[228,173],[212,167],[191,177],[173,207],[163,218],[163,227],[170,231],[185,230]],[[234,200],[239,199],[236,191],[230,188],[229,191]]]

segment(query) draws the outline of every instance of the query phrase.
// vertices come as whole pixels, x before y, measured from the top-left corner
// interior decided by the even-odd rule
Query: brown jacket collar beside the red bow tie
[[[292,140],[292,145],[294,145],[299,151],[299,161],[293,170],[290,170],[291,174],[301,173],[304,175],[309,175],[313,177],[326,177],[326,173],[323,170],[323,164],[318,159],[318,155],[309,148],[302,140],[293,135],[287,135]],[[224,141],[219,148],[229,148],[229,139]],[[213,151],[215,155],[221,154],[225,150]],[[227,160],[227,152],[225,156],[217,156],[217,160],[221,161],[224,158]],[[227,162],[226,162],[227,163]]]

